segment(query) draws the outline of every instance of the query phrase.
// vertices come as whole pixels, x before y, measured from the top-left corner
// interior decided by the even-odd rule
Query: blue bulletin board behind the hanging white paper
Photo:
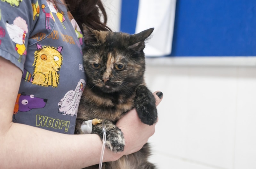
[[[121,31],[134,33],[138,4],[122,1]],[[256,1],[177,0],[170,56],[256,56]]]

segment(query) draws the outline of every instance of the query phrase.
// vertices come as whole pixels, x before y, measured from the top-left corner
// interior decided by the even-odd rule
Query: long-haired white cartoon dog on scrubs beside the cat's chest
[[[76,86],[75,90],[69,90],[65,96],[58,103],[59,113],[63,115],[76,116],[78,105],[84,91],[85,81],[81,79]]]

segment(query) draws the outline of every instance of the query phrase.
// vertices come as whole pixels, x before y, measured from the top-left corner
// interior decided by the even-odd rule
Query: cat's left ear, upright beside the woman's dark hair
[[[84,44],[88,46],[94,46],[99,43],[98,35],[100,34],[100,32],[89,28],[85,24],[83,24],[82,26]]]

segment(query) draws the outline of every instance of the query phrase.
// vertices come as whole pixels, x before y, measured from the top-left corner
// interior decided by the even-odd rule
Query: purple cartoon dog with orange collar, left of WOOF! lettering
[[[44,108],[47,99],[35,97],[34,95],[25,95],[24,92],[19,93],[16,98],[12,121],[16,122],[15,115],[18,111],[27,112],[31,109]]]

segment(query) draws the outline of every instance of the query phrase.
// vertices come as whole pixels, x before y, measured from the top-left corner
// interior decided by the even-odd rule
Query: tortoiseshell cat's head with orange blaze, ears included
[[[96,31],[83,25],[84,68],[89,88],[111,93],[144,82],[145,40],[154,28],[137,34]]]

